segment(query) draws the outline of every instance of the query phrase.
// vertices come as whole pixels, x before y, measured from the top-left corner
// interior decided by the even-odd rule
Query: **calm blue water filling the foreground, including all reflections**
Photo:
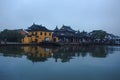
[[[0,47],[0,80],[120,80],[120,47]]]

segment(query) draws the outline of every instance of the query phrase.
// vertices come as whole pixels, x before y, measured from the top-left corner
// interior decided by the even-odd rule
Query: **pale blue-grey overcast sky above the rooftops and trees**
[[[0,0],[0,30],[27,29],[33,23],[120,36],[120,0]]]

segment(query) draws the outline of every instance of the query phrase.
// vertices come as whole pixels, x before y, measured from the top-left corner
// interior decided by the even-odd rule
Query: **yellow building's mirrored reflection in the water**
[[[39,46],[25,46],[23,47],[25,55],[32,62],[46,61],[48,58],[52,57],[52,50],[49,48],[42,48]]]

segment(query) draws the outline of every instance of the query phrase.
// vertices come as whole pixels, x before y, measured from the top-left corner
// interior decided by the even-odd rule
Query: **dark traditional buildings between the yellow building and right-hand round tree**
[[[70,26],[65,26],[63,25],[60,29],[58,29],[58,27],[56,27],[54,29],[54,33],[53,33],[54,37],[58,38],[58,42],[61,43],[87,43],[90,42],[90,36],[87,34],[87,32],[83,31],[80,32],[73,30]],[[53,39],[54,40],[54,39]]]

